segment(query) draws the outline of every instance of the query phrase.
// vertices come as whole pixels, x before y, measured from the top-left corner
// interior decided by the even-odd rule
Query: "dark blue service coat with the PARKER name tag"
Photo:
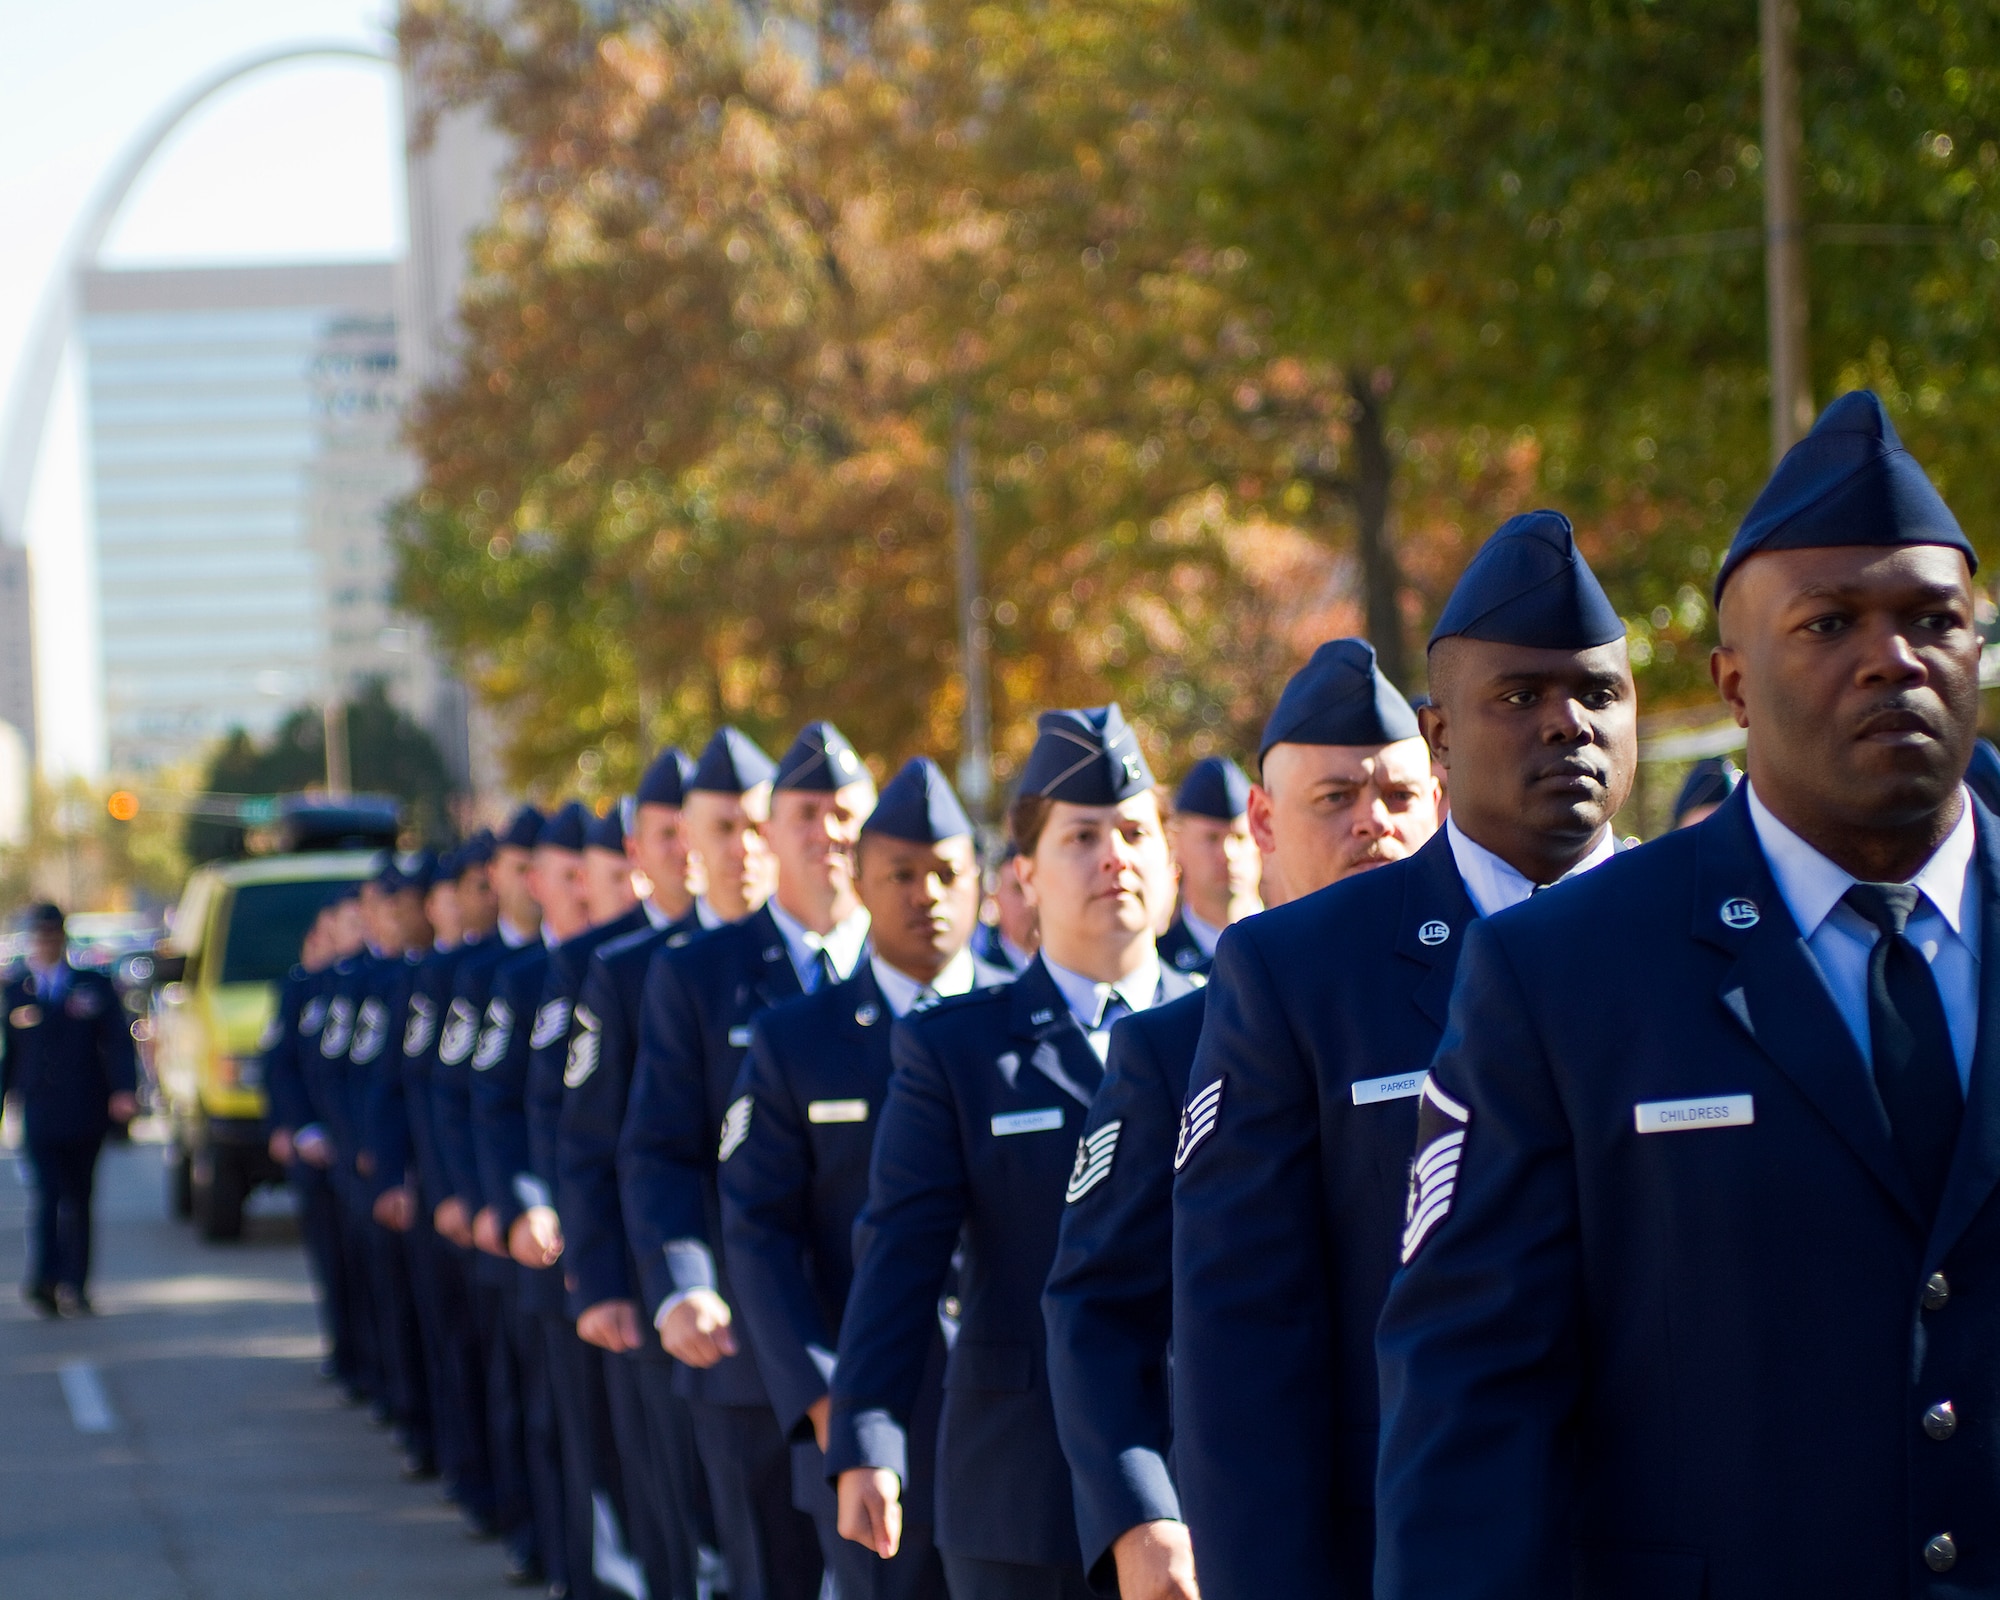
[[[1374,1324],[1476,916],[1440,828],[1222,936],[1172,1224],[1174,1466],[1204,1594],[1368,1594]]]

